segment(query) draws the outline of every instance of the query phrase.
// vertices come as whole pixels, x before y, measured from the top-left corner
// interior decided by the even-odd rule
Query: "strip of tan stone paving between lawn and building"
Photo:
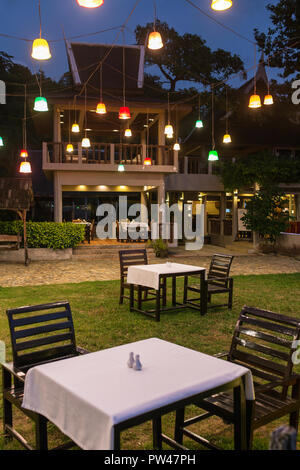
[[[210,247],[204,252],[179,252],[170,256],[169,261],[208,267],[211,254],[228,250]],[[247,250],[248,251],[248,250]],[[232,250],[231,250],[232,252]],[[300,260],[286,256],[235,253],[232,274],[269,274],[300,272]],[[150,263],[164,263],[166,260],[151,256]],[[0,286],[33,286],[42,284],[78,283],[119,279],[119,261],[116,254],[107,257],[74,256],[67,261],[35,261],[28,267],[19,263],[0,263]]]

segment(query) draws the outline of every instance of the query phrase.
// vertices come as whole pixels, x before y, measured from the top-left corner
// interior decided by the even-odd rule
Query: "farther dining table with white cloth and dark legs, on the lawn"
[[[198,278],[198,285],[200,290],[200,303],[196,306],[187,301],[186,286],[189,276]],[[177,301],[177,279],[184,278],[183,300]],[[167,306],[167,279],[172,279],[172,305]],[[160,321],[161,312],[170,310],[182,310],[186,308],[194,309],[200,312],[201,315],[207,313],[207,286],[206,286],[206,270],[203,267],[192,266],[189,264],[181,263],[158,263],[146,265],[133,265],[128,266],[127,284],[130,285],[130,311],[139,312],[144,315],[154,318],[157,322]],[[161,289],[164,284],[165,288]],[[134,292],[137,288],[138,295],[135,299]],[[142,292],[143,288],[155,290],[155,308],[146,309],[142,307]],[[163,291],[163,296],[161,296]],[[150,300],[149,300],[150,301]],[[137,305],[136,305],[137,303]]]

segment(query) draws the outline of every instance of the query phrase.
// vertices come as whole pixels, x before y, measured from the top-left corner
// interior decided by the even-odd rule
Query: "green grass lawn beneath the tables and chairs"
[[[226,308],[209,310],[205,317],[196,311],[184,310],[168,312],[161,316],[160,323],[138,313],[130,313],[127,301],[118,304],[119,282],[84,282],[80,284],[45,285],[34,287],[12,287],[0,289],[0,340],[7,346],[7,360],[11,360],[10,338],[5,310],[22,305],[68,300],[71,304],[78,345],[97,351],[128,342],[150,337],[158,337],[207,354],[227,351],[233,329],[243,305],[251,305],[273,310],[290,316],[300,315],[300,273],[237,276],[235,277],[234,306],[229,312]],[[178,290],[181,290],[179,286]],[[221,301],[221,296],[216,299]],[[214,299],[214,298],[213,298]],[[300,371],[298,371],[300,372]],[[199,413],[189,408],[188,413]],[[18,427],[27,436],[33,436],[31,424],[16,415]],[[2,421],[2,409],[0,411]],[[287,418],[283,420],[287,422]],[[278,424],[279,425],[279,424]],[[267,449],[270,432],[278,426],[272,423],[255,433],[254,449]],[[174,416],[163,419],[164,430],[173,435]],[[58,444],[61,435],[54,426],[51,428],[51,443]],[[216,445],[231,449],[232,427],[218,418],[211,418],[194,430]],[[186,440],[191,449],[201,447]],[[300,448],[300,441],[298,442]],[[0,449],[20,449],[16,441],[5,442],[0,434]],[[151,425],[146,423],[122,434],[123,449],[151,449]]]

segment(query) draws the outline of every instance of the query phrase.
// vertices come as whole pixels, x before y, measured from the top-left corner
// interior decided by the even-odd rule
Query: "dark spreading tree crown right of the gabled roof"
[[[145,44],[153,24],[138,25],[135,30],[138,44]],[[223,49],[212,51],[206,41],[197,34],[180,35],[165,22],[156,22],[156,30],[162,35],[163,49],[152,51],[147,48],[146,65],[157,66],[169,84],[170,91],[176,90],[179,81],[200,83],[204,86],[225,80],[233,73],[244,72],[241,58]]]

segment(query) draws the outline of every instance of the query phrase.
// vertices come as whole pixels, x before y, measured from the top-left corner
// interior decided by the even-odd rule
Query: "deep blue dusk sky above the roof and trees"
[[[270,25],[266,6],[276,0],[234,0],[233,7],[225,12],[214,12],[211,0],[193,0],[195,4],[242,35],[253,40],[253,29],[267,31]],[[52,42],[52,59],[43,64],[45,73],[55,79],[68,70],[64,42],[66,37],[89,34],[102,29],[120,26],[128,17],[136,0],[105,0],[96,9],[82,8],[76,0],[41,0],[43,37]],[[213,48],[224,48],[241,56],[245,68],[253,66],[253,46],[225,30],[195,10],[186,0],[156,0],[157,16],[179,33],[196,33]],[[0,32],[33,40],[39,35],[38,0],[0,0]],[[134,44],[137,24],[153,21],[152,0],[141,0],[133,13],[125,34],[127,44]],[[111,43],[118,31],[106,32],[77,39],[78,42]],[[30,57],[31,42],[0,37],[0,50],[14,56],[15,61],[36,70],[37,62]],[[120,36],[118,43],[122,43]]]

